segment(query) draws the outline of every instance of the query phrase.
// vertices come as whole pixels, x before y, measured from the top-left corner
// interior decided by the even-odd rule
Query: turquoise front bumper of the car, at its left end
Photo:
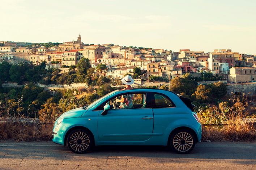
[[[55,131],[55,128],[58,126],[59,130]],[[57,144],[61,144],[64,145],[64,140],[65,140],[65,131],[68,128],[66,126],[64,126],[62,123],[59,125],[54,126],[53,130],[52,130],[52,142],[57,143]]]

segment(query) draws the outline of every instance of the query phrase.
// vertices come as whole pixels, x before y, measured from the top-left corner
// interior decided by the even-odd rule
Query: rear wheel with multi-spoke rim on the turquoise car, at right
[[[196,138],[191,130],[180,129],[172,133],[170,137],[171,149],[179,154],[186,154],[193,150]]]

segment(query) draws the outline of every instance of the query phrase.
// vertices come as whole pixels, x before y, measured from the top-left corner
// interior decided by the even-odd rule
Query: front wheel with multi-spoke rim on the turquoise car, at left
[[[74,129],[68,134],[67,146],[74,153],[86,153],[93,147],[93,137],[87,130]]]

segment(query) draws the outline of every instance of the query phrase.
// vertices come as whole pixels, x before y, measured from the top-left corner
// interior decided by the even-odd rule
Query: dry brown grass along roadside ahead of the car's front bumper
[[[52,139],[53,125],[22,126],[19,124],[0,124],[0,139],[18,141],[48,141]]]

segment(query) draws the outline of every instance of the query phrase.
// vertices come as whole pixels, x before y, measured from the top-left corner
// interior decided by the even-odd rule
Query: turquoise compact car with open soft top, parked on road
[[[189,99],[167,90],[132,89],[63,113],[52,133],[53,142],[75,153],[99,145],[160,145],[188,153],[200,142],[202,129]]]

